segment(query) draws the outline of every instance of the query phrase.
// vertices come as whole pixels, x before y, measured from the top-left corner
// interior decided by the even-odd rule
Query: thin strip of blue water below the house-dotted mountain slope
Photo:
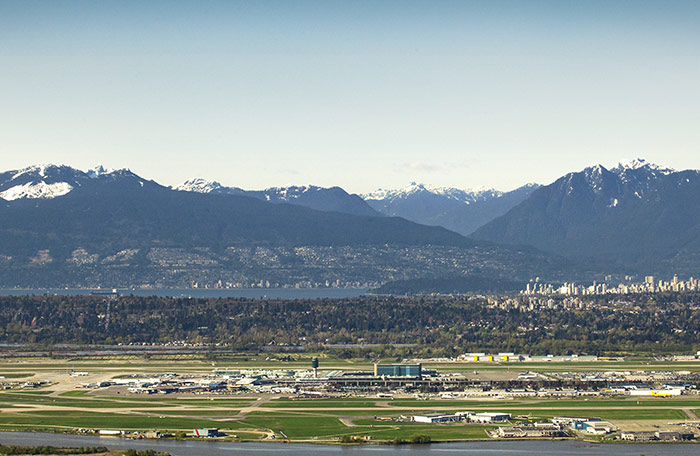
[[[50,289],[0,289],[0,296],[86,296],[94,291],[108,289],[50,288]],[[122,296],[160,296],[191,298],[248,298],[248,299],[319,299],[355,298],[367,294],[366,288],[133,288],[117,289]]]

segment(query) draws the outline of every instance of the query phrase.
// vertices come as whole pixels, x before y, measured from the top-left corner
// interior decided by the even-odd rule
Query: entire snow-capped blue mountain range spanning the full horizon
[[[698,268],[700,172],[644,160],[511,192],[412,184],[366,195],[204,179],[171,188],[102,167],[0,173],[0,286],[499,289]]]

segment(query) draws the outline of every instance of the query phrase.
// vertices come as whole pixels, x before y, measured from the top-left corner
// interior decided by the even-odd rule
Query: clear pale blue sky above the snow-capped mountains
[[[0,0],[0,169],[510,189],[700,168],[698,1]]]

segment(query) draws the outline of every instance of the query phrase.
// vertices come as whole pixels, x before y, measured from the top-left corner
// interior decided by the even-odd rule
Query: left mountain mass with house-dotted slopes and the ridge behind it
[[[380,215],[342,189],[205,186],[101,167],[4,172],[0,286],[375,286],[561,270],[535,249]]]

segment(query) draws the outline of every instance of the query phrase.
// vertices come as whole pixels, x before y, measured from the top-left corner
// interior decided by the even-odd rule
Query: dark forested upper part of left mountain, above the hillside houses
[[[0,198],[5,200],[0,205],[0,248],[9,252],[25,243],[34,248],[42,234],[41,243],[55,249],[70,245],[69,238],[82,238],[84,247],[102,249],[119,237],[127,245],[143,238],[206,247],[474,244],[444,228],[398,217],[351,216],[245,195],[175,191],[125,169],[83,172],[42,166],[6,172],[0,174]]]

